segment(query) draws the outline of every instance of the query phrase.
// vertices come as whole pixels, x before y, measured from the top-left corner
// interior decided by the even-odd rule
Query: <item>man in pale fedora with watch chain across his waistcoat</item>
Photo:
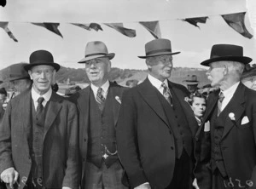
[[[105,43],[93,41],[87,43],[85,57],[79,61],[85,64],[91,82],[71,97],[79,109],[82,189],[126,188],[121,182],[124,170],[119,163],[115,137],[125,88],[108,80],[114,55],[108,54]]]

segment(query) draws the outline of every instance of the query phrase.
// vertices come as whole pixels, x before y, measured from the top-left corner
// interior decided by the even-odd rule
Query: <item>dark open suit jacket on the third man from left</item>
[[[168,83],[183,107],[193,135],[198,125],[182,85]],[[149,182],[152,188],[165,188],[172,180],[175,165],[174,137],[157,89],[148,78],[125,91],[119,112],[117,142],[119,158],[132,187]]]

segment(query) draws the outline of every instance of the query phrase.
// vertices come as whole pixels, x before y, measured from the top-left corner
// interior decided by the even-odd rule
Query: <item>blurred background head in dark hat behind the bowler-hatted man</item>
[[[18,63],[9,66],[9,77],[5,79],[5,82],[10,82],[12,89],[14,89],[15,95],[22,93],[26,89],[30,89],[32,86],[32,80],[28,73],[24,70],[26,63]],[[14,95],[12,95],[14,97]],[[10,98],[11,99],[11,98]]]

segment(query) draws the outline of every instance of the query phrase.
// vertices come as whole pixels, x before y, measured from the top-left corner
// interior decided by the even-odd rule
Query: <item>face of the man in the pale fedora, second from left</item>
[[[108,72],[111,69],[111,62],[107,57],[96,58],[85,62],[85,72],[90,82],[101,87],[108,80]]]

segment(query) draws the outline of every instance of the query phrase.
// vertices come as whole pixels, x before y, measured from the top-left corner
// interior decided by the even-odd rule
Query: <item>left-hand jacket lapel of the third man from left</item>
[[[149,82],[148,77],[143,83],[140,84],[140,86],[141,87],[138,88],[138,90],[140,94],[142,94],[142,98],[146,101],[148,106],[152,108],[156,115],[158,115],[166,123],[166,125],[170,127],[163,106],[157,97],[157,89],[155,89],[154,86]]]

